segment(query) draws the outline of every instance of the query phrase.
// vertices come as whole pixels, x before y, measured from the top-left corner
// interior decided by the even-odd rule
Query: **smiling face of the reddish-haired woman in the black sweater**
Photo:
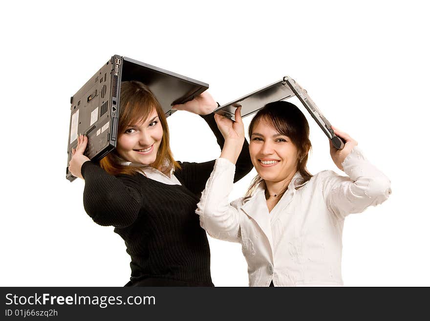
[[[126,126],[118,138],[116,150],[126,161],[151,165],[157,158],[162,138],[163,127],[157,111],[152,109],[146,120]]]

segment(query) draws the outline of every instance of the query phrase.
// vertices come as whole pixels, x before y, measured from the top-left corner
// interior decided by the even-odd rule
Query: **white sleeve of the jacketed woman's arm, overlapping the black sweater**
[[[237,202],[228,201],[234,174],[235,165],[218,158],[195,213],[200,216],[200,226],[212,237],[240,242],[240,213],[234,205]]]

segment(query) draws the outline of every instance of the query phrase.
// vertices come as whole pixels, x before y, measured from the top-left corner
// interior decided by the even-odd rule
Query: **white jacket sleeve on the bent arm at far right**
[[[391,194],[390,180],[369,163],[358,147],[354,147],[342,165],[348,177],[332,172],[323,187],[327,208],[332,213],[344,218],[388,199]]]

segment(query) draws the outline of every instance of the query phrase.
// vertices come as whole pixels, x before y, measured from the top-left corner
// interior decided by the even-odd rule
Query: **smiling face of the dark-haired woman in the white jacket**
[[[266,182],[284,181],[297,171],[297,147],[264,119],[252,128],[249,153],[258,175]]]

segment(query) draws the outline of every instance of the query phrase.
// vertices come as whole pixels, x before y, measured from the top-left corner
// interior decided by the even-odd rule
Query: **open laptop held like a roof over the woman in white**
[[[246,117],[256,113],[268,103],[286,100],[293,96],[297,96],[328,139],[332,141],[334,147],[338,150],[342,150],[344,148],[344,140],[335,135],[330,122],[324,117],[320,109],[318,109],[317,105],[315,105],[309,97],[307,91],[304,90],[294,79],[288,76],[285,76],[280,81],[258,89],[233,102],[220,106],[216,108],[214,112],[235,120],[235,110],[239,106],[242,107],[240,111],[241,116]]]

